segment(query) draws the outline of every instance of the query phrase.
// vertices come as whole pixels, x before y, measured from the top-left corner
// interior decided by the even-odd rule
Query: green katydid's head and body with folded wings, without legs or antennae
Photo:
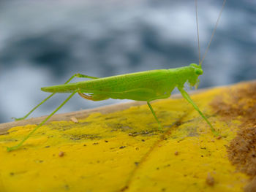
[[[174,88],[182,89],[185,82],[194,86],[203,70],[197,64],[176,69],[159,69],[112,77],[97,78],[41,88],[51,93],[80,93],[85,99],[101,101],[105,99],[132,99],[153,101],[170,96]],[[84,93],[89,93],[86,95]]]

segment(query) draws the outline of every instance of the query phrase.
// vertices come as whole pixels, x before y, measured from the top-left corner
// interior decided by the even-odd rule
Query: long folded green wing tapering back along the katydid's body
[[[55,85],[41,88],[42,91],[51,93],[72,93],[80,88],[83,91],[111,91],[121,92],[135,88],[159,89],[167,84],[167,69],[159,69],[148,72],[122,74],[111,77],[103,77],[96,80]]]

